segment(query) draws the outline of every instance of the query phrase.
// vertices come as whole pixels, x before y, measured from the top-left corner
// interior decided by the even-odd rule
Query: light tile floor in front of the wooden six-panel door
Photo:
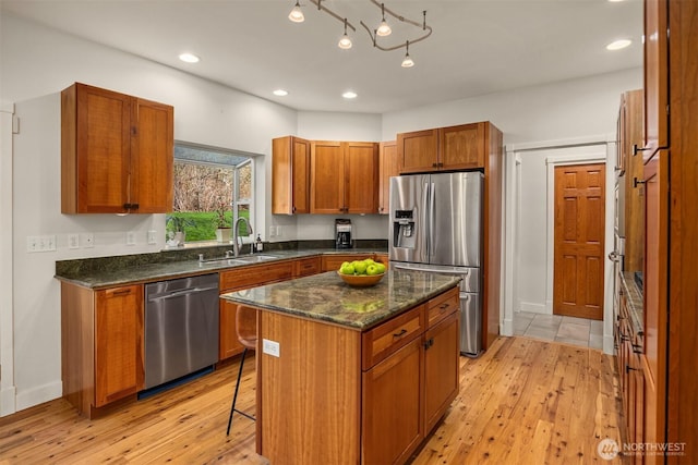
[[[514,314],[514,334],[603,348],[603,321],[586,318],[516,311]]]

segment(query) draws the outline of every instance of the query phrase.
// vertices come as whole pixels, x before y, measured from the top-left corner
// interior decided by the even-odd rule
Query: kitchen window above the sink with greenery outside
[[[167,245],[225,241],[217,230],[253,222],[254,156],[237,150],[174,144],[174,201],[167,215]],[[244,223],[239,230],[245,242]]]

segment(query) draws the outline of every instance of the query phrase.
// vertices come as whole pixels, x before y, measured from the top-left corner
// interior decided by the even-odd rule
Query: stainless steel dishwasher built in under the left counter
[[[145,286],[145,389],[218,362],[218,274]]]

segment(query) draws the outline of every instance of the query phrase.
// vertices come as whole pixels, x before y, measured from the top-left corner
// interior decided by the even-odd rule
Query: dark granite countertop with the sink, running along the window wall
[[[97,266],[70,267],[64,266],[59,269],[57,266],[56,279],[70,282],[83,287],[99,289],[118,285],[153,282],[168,279],[176,279],[193,274],[207,274],[227,269],[244,266],[275,264],[281,260],[289,260],[303,257],[313,257],[328,254],[372,254],[385,253],[386,250],[347,248],[347,249],[300,249],[300,250],[269,250],[255,255],[274,256],[274,259],[258,262],[236,262],[229,260],[200,262],[198,259],[168,260],[161,262],[140,262],[137,260],[125,260],[123,257],[103,257]],[[219,253],[214,257],[222,257]],[[250,254],[242,254],[238,258],[244,258]],[[213,258],[213,257],[206,257]],[[77,261],[77,260],[75,260]]]

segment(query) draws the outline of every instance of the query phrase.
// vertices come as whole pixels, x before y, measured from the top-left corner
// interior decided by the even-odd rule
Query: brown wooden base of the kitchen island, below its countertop
[[[260,311],[257,453],[270,463],[405,463],[458,393],[458,289],[365,332]]]

